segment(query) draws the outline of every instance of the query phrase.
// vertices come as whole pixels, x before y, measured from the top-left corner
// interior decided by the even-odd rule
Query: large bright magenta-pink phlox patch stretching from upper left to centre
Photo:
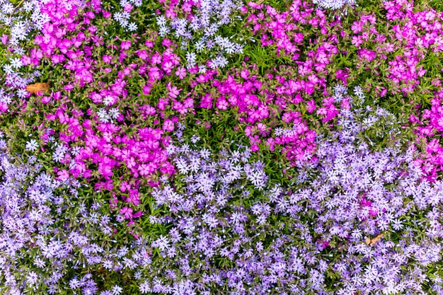
[[[269,33],[279,39],[277,54],[284,51],[284,54],[297,59],[297,48],[291,39],[296,37],[296,42],[300,43],[303,35],[297,33],[299,29],[283,25],[281,20],[287,13],[277,13],[270,6],[264,9],[264,6],[248,5],[253,8],[251,11],[257,11],[259,15],[265,13],[266,18],[251,16],[249,20],[266,28],[263,45],[272,45],[265,38]],[[294,4],[292,18],[314,19],[309,7],[308,4]],[[238,122],[243,125],[253,151],[259,151],[262,142],[260,137],[264,137],[271,151],[275,150],[275,146],[282,146],[282,152],[293,162],[310,158],[315,149],[316,132],[309,129],[309,123],[301,116],[302,107],[292,110],[289,104],[306,102],[308,112],[312,113],[317,108],[316,101],[312,98],[304,101],[303,96],[309,98],[321,88],[325,95],[325,70],[330,64],[330,58],[337,52],[337,48],[326,40],[322,39],[315,46],[315,51],[306,62],[299,62],[298,71],[303,69],[303,79],[294,77],[297,67],[290,69],[290,73],[287,68],[275,70],[273,74],[262,78],[255,64],[245,66],[245,69],[234,69],[234,75],[239,81],[234,80],[232,75],[228,79],[216,79],[220,75],[216,69],[194,67],[187,70],[181,67],[180,57],[175,53],[178,46],[172,40],[161,39],[154,32],[146,33],[144,42],[136,38],[120,40],[116,37],[105,44],[105,37],[100,35],[105,30],[99,30],[98,24],[94,22],[98,16],[109,22],[112,18],[98,1],[93,1],[91,6],[69,7],[62,2],[47,2],[42,5],[42,11],[50,16],[50,23],[45,24],[42,34],[35,37],[38,49],[23,59],[32,67],[41,66],[42,62],[51,62],[70,79],[67,83],[55,84],[60,88],[59,91],[36,98],[33,107],[42,112],[44,118],[33,125],[38,126],[42,135],[38,140],[28,139],[26,150],[38,154],[42,149],[52,149],[52,160],[57,162],[54,173],[57,173],[59,180],[65,180],[71,175],[85,178],[88,182],[93,181],[97,190],[110,190],[115,195],[129,194],[122,197],[126,201],[121,207],[115,204],[115,200],[120,198],[113,197],[110,202],[114,209],[123,209],[129,203],[134,206],[134,212],[139,211],[140,185],[156,185],[156,173],[159,170],[163,175],[172,175],[173,168],[163,150],[168,144],[168,132],[173,132],[178,121],[183,120],[187,114],[195,114],[195,105],[209,110],[213,108],[213,100],[216,100],[212,94],[203,95],[198,91],[198,87],[195,87],[198,84],[203,88],[217,87],[221,95],[214,103],[221,112],[226,110],[223,112],[226,114],[238,108],[241,114]],[[69,13],[70,17],[60,19],[57,14],[59,11]],[[297,13],[301,13],[301,16]],[[328,28],[326,16],[320,12],[316,12],[316,15],[321,18],[321,23],[312,24],[321,27],[323,32],[323,29]],[[79,31],[78,28],[86,30]],[[162,52],[154,49],[159,42]],[[98,54],[104,50],[115,53]],[[185,80],[190,84],[188,88],[176,86],[178,81],[175,79],[182,81],[188,76],[189,80]],[[109,82],[98,81],[100,78],[108,79]],[[136,78],[142,81],[142,85],[134,89],[130,81]],[[266,82],[267,79],[270,81]],[[158,94],[159,85],[163,81],[168,83],[163,96],[156,98],[158,103],[147,103],[146,96],[152,97],[154,91]],[[265,88],[276,89],[270,91]],[[71,96],[75,91],[87,93],[90,104],[86,108],[80,106],[82,99]],[[134,100],[132,93],[137,93],[136,97],[141,99],[139,103],[130,102]],[[345,102],[342,105],[345,106]],[[316,112],[323,122],[333,120],[337,113],[334,98],[323,99]],[[277,124],[292,128],[292,131],[282,134],[282,137],[268,137],[279,115],[282,120]],[[48,134],[48,127],[57,132]],[[137,135],[128,134],[131,133],[127,132],[129,127]],[[50,141],[50,137],[55,142]],[[67,153],[74,149],[75,154]],[[98,174],[93,173],[94,169],[98,170]],[[118,179],[115,177],[117,175]],[[131,214],[124,215],[129,216],[132,222]]]

